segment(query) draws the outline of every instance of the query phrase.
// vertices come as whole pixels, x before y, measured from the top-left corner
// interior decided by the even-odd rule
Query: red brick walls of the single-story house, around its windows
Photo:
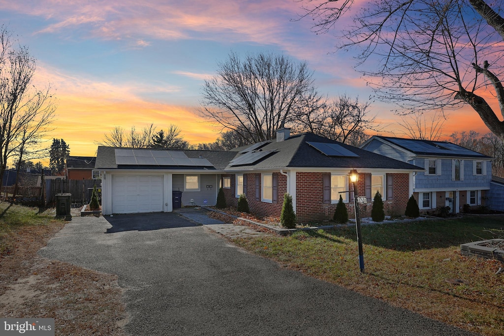
[[[284,193],[287,192],[287,178],[285,175],[278,174],[278,203],[272,204],[263,202],[261,196],[256,200],[256,175],[261,177],[260,173],[244,174],[247,179],[247,201],[250,211],[260,216],[276,216],[279,217],[282,211]],[[365,192],[365,174],[359,174],[358,193],[364,195]],[[409,174],[396,173],[393,175],[393,199],[384,201],[385,214],[391,212],[404,214],[406,204],[409,198]],[[231,187],[224,189],[226,196],[226,204],[231,207],[238,205],[236,198],[236,181],[235,174],[222,175],[222,177],[231,178]],[[261,180],[262,182],[262,180]],[[305,223],[313,220],[332,219],[336,204],[323,203],[323,173],[322,172],[297,172],[296,173],[296,214],[298,222]],[[386,184],[386,183],[385,183]],[[262,186],[260,185],[260,195]],[[346,204],[350,218],[354,213],[353,201]],[[370,217],[372,209],[372,201],[367,204],[360,205],[361,217]]]

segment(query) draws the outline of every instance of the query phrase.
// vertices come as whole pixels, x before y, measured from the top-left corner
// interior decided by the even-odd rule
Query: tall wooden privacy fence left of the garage
[[[71,193],[72,203],[85,204],[89,203],[91,193],[89,188],[101,187],[101,179],[96,180],[45,180],[45,204],[51,205],[56,201],[56,194]]]

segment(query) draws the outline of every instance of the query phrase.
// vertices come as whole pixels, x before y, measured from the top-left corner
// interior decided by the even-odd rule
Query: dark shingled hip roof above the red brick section
[[[358,155],[358,157],[330,157],[308,145],[312,143],[337,144]],[[274,169],[274,168],[376,168],[376,169],[407,169],[423,170],[421,167],[394,160],[360,148],[345,145],[313,133],[294,135],[285,141],[271,141],[261,148],[262,151],[275,150],[266,158],[250,165],[230,166],[226,170],[241,169]],[[237,154],[238,157],[240,154]]]

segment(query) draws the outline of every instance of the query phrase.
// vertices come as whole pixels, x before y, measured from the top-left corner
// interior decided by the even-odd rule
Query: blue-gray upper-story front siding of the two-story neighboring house
[[[415,164],[425,167],[425,159],[415,159]],[[486,175],[473,175],[473,160],[464,159],[464,180],[452,180],[452,159],[441,160],[441,175],[425,175],[424,172],[417,173],[415,177],[415,189],[446,188],[462,190],[464,188],[489,188],[492,179],[492,165],[490,161],[486,163]]]

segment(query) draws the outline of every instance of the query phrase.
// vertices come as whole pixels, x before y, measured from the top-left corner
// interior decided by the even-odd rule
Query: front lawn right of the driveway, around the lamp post
[[[296,232],[233,242],[293,270],[485,335],[504,334],[501,263],[460,255],[460,244],[496,238],[504,216],[362,227],[365,273],[355,228]],[[447,279],[462,279],[457,286]]]

